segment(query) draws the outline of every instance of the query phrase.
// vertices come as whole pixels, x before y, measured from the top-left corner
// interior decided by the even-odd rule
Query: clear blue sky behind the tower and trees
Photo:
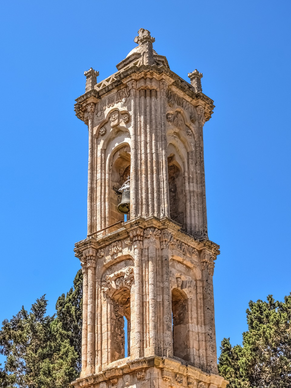
[[[249,300],[291,291],[288,1],[75,0],[2,5],[0,321],[42,294],[54,313],[86,237],[88,130],[74,116],[91,66],[102,80],[146,28],[215,103],[204,126],[217,343],[241,343]]]

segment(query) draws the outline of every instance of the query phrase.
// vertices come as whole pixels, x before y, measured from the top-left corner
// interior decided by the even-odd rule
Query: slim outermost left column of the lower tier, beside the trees
[[[87,368],[87,325],[88,325],[88,268],[86,258],[81,258],[82,274],[83,274],[83,325],[82,325],[82,370],[81,377],[86,374]]]

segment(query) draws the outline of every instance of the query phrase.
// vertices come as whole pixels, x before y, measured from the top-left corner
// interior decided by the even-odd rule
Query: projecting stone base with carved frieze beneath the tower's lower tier
[[[168,357],[123,359],[73,381],[74,388],[225,388],[228,381]]]

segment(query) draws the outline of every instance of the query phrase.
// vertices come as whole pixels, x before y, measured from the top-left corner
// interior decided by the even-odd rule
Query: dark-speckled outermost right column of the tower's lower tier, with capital
[[[210,251],[203,249],[200,258],[202,263],[203,312],[206,330],[206,371],[218,374],[212,279],[214,268],[213,256]]]

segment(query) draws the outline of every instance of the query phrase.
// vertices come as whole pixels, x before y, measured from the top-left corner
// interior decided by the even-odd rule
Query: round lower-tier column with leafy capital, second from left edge
[[[87,329],[87,368],[86,374],[95,372],[95,267],[96,250],[86,249],[83,256],[87,258],[88,268],[88,329]]]

